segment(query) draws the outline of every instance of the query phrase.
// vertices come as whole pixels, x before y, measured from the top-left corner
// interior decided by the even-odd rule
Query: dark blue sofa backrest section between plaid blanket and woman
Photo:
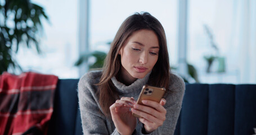
[[[82,123],[78,106],[79,79],[59,79],[48,134],[82,134]]]

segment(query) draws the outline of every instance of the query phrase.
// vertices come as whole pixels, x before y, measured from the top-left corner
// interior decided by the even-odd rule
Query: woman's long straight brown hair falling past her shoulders
[[[118,93],[115,90],[114,84],[111,81],[112,77],[119,75],[122,67],[119,50],[124,45],[129,36],[137,30],[152,30],[158,36],[159,40],[159,57],[149,77],[149,84],[152,86],[164,87],[169,86],[169,56],[167,51],[167,41],[163,26],[148,12],[135,13],[129,16],[117,31],[113,42],[111,43],[110,51],[104,61],[104,67],[98,86],[98,98],[103,113],[110,116],[109,107],[117,100]]]

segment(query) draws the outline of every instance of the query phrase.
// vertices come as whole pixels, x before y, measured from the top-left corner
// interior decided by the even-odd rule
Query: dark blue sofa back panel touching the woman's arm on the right
[[[182,103],[180,134],[207,134],[209,84],[187,84]]]

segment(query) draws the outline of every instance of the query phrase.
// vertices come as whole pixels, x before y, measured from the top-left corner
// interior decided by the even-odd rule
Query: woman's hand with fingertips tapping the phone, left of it
[[[132,134],[136,128],[137,118],[132,115],[130,110],[134,104],[136,101],[133,97],[122,97],[109,107],[115,128],[122,135]]]

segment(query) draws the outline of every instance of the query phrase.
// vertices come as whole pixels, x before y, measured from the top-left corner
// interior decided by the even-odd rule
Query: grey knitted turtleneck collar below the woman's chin
[[[140,92],[140,89],[142,88],[142,86],[147,84],[150,74],[151,74],[151,71],[144,78],[135,80],[135,82],[133,82],[129,86],[125,86],[125,84],[119,82],[115,77],[111,78],[111,80],[118,92],[134,93],[134,92]]]

